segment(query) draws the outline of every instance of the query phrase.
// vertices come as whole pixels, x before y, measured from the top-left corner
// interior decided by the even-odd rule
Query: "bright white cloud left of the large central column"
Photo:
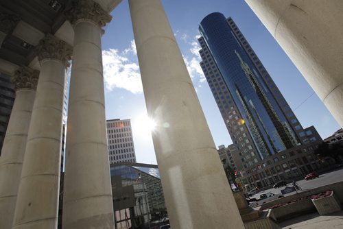
[[[129,60],[130,52],[136,53],[134,40],[131,41],[130,47],[122,52],[117,49],[102,51],[106,90],[112,91],[114,88],[123,88],[131,93],[143,92],[139,65]]]

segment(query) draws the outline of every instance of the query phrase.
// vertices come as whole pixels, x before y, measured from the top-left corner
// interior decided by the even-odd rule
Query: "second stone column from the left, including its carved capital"
[[[64,80],[71,47],[47,35],[12,228],[57,228]]]

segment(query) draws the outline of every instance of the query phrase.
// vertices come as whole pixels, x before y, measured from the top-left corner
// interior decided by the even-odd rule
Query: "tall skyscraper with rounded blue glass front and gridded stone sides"
[[[306,167],[300,173],[291,161],[289,165],[283,163],[283,170],[278,172],[285,171],[287,176],[274,178],[271,171],[264,171],[279,161],[281,152],[294,152],[300,147],[302,152],[311,153],[309,145],[322,139],[314,127],[304,130],[233,19],[209,14],[199,30],[200,66],[243,164],[239,171],[243,182],[263,187],[314,169]],[[313,159],[311,162],[316,162]],[[289,167],[294,168],[292,172]]]

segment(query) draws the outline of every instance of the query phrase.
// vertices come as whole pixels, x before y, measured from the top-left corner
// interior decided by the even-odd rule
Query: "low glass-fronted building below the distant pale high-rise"
[[[167,217],[157,166],[116,164],[110,174],[116,228],[150,228]]]

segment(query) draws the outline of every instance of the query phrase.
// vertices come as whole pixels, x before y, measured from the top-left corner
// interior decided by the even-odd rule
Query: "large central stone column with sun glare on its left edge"
[[[244,228],[161,1],[129,4],[171,227]]]

